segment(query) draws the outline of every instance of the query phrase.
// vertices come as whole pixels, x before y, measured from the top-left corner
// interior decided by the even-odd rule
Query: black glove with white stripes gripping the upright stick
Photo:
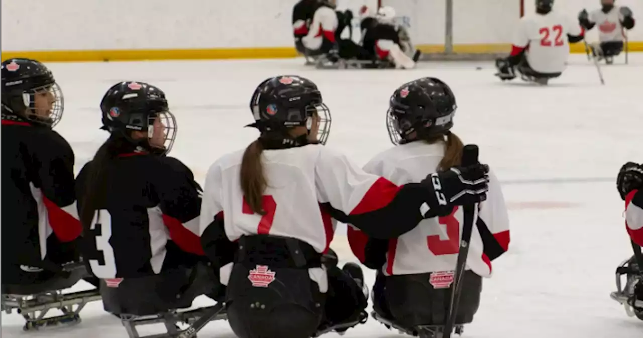
[[[446,216],[454,206],[475,204],[487,199],[489,191],[489,166],[477,163],[456,166],[428,175],[420,184],[435,191],[437,215]]]

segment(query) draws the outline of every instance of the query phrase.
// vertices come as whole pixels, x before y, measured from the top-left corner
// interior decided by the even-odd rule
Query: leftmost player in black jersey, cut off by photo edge
[[[46,284],[79,258],[74,153],[52,129],[62,112],[44,64],[2,63],[2,285]]]

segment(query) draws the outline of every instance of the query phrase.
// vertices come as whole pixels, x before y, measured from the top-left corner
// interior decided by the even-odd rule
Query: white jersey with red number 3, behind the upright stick
[[[395,184],[420,182],[436,172],[444,156],[442,143],[415,141],[382,152],[372,159],[365,170],[382,175]],[[467,269],[484,277],[491,276],[491,260],[507,251],[509,246],[509,217],[493,173],[489,173],[487,200],[480,204],[478,222],[473,227]],[[448,217],[422,220],[413,230],[390,240],[385,275],[448,272],[455,269],[462,233],[462,208],[455,208]],[[355,230],[349,232],[352,240]],[[356,242],[352,242],[354,246]]]

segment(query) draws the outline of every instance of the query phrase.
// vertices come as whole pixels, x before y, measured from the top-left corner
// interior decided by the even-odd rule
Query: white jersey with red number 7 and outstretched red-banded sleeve
[[[286,236],[307,242],[318,253],[323,253],[331,244],[336,226],[326,210],[332,209],[334,215],[343,213],[336,216],[343,222],[372,224],[377,231],[384,227],[376,224],[383,213],[387,217],[394,213],[415,213],[417,222],[422,218],[421,206],[425,200],[403,200],[397,209],[388,208],[400,187],[364,172],[346,156],[323,145],[264,150],[262,162],[268,185],[263,197],[266,215],[257,215],[244,202],[240,187],[243,154],[243,150],[233,152],[210,166],[201,206],[201,235],[222,213],[230,241],[242,235]],[[418,187],[408,189],[413,188],[424,191]],[[427,199],[429,195],[427,192]],[[378,212],[377,217],[371,217],[372,211]],[[411,226],[417,222],[413,220]],[[321,292],[325,292],[325,271],[311,269],[311,278],[320,283]],[[224,270],[221,282],[227,284]]]

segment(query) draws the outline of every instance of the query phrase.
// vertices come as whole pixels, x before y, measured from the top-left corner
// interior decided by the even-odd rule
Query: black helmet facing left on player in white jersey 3
[[[395,145],[445,134],[453,127],[457,105],[451,88],[437,78],[401,85],[386,112],[388,136]]]

